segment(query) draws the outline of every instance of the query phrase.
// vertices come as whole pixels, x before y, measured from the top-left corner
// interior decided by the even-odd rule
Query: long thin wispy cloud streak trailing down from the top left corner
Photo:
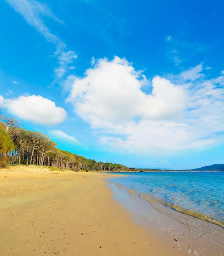
[[[18,12],[29,25],[34,27],[45,39],[55,45],[56,51],[54,56],[58,60],[59,67],[55,68],[55,81],[61,83],[65,76],[73,67],[73,63],[77,55],[74,51],[67,50],[66,44],[56,35],[52,34],[49,28],[45,25],[43,17],[50,17],[56,22],[63,24],[63,21],[58,19],[47,4],[40,3],[35,0],[6,0],[11,7]]]

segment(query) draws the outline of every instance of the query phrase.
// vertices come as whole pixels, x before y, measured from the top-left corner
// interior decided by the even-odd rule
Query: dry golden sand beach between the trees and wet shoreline
[[[138,225],[114,200],[108,177],[36,166],[1,169],[0,255],[189,255],[187,228],[168,236]]]

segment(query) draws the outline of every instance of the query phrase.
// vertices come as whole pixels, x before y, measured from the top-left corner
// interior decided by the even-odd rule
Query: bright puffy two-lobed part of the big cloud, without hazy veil
[[[95,128],[123,124],[133,118],[170,119],[184,108],[184,90],[159,76],[153,79],[151,95],[142,92],[142,71],[128,61],[115,57],[100,59],[76,79],[67,101]]]

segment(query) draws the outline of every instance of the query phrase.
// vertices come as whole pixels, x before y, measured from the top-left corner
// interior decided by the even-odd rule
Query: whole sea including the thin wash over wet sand
[[[201,247],[201,254],[195,255],[224,255],[224,172],[119,174],[122,176],[106,181],[114,192],[114,198],[124,207],[144,215],[145,221],[147,214],[150,220],[153,208],[187,225],[192,240]]]

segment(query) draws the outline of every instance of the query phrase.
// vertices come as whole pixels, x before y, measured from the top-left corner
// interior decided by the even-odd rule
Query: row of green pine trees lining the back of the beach
[[[45,134],[25,130],[18,124],[16,119],[0,115],[0,157],[7,157],[10,164],[52,166],[72,171],[128,171],[128,167],[121,164],[98,163],[60,150]]]

